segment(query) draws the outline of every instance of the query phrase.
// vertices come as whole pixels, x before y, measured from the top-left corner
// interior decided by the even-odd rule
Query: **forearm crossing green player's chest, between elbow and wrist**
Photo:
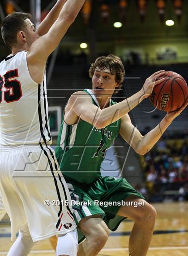
[[[100,120],[101,126],[103,127],[108,126],[126,115],[145,98],[147,98],[147,95],[144,95],[143,91],[140,90],[120,103],[116,103],[109,108],[104,108],[103,110],[99,111],[95,117],[96,121]]]

